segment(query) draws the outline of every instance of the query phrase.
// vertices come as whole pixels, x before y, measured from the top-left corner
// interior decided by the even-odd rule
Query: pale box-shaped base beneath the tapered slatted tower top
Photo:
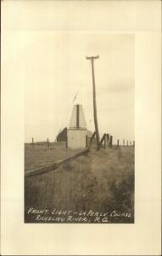
[[[68,148],[86,148],[86,136],[86,129],[68,129]]]

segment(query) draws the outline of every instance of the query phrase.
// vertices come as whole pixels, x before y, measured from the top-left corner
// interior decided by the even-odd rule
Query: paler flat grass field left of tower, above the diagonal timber
[[[80,151],[65,148],[65,143],[51,143],[50,146],[47,148],[47,143],[35,143],[33,148],[31,143],[25,143],[25,171],[50,164],[55,160],[62,160]]]

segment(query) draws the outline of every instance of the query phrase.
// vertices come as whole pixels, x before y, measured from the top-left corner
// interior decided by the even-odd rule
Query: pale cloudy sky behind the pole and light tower
[[[134,140],[133,34],[28,31],[25,43],[25,143],[55,140],[68,127],[74,104],[81,104],[87,129],[94,131],[92,69],[94,61],[98,128],[122,141]],[[75,95],[77,94],[76,98]],[[75,98],[75,101],[74,101]]]

